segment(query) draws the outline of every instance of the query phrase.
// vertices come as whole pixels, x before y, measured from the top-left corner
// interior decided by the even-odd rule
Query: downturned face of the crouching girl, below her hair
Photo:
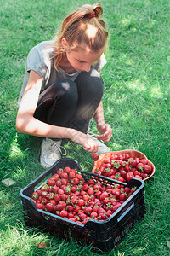
[[[104,49],[100,49],[98,52],[92,52],[86,44],[79,44],[76,49],[67,48],[66,58],[75,70],[88,72],[92,64],[99,60],[103,51]]]

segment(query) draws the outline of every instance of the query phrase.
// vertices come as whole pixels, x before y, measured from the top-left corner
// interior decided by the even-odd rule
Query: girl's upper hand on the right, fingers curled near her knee
[[[112,129],[111,125],[104,124],[104,125],[97,125],[97,129],[101,135],[97,136],[98,140],[102,140],[105,143],[108,143],[112,137]]]

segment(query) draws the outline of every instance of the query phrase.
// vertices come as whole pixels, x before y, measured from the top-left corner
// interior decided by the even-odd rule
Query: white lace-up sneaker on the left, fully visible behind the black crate
[[[61,146],[62,140],[54,141],[49,138],[42,140],[42,152],[40,156],[40,164],[47,169],[61,158],[61,154],[66,154],[65,148]],[[64,149],[64,152],[62,152]]]

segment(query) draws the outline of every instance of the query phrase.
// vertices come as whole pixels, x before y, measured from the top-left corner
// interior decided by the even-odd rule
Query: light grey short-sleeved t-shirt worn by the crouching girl
[[[42,88],[45,89],[47,86],[55,84],[57,81],[63,79],[70,79],[74,81],[80,72],[66,73],[63,69],[58,66],[58,70],[54,67],[54,48],[52,47],[53,41],[43,41],[37,44],[31,49],[27,56],[26,69],[22,88],[20,90],[20,96],[18,100],[18,106],[20,106],[21,98],[26,90],[26,84],[28,83],[30,71],[34,70],[42,77]],[[96,61],[93,67],[97,71],[105,66],[106,60],[105,55],[101,55],[99,61]]]

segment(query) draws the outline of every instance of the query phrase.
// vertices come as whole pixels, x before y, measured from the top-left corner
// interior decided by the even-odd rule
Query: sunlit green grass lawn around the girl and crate
[[[12,177],[9,189],[0,185],[0,255],[97,255],[89,247],[29,229],[23,220],[20,189],[43,172],[40,140],[15,130],[26,56],[42,40],[53,38],[78,0],[6,0],[1,4],[0,68],[0,179]],[[94,3],[89,1],[88,3]],[[155,164],[154,177],[145,183],[146,213],[110,256],[167,256],[170,248],[170,49],[167,0],[103,0],[110,32],[105,81],[105,121],[113,128],[111,150],[132,148]],[[65,8],[66,6],[66,8]],[[96,132],[94,121],[92,130]],[[90,171],[87,152],[65,143],[67,156]],[[48,248],[37,248],[45,242]]]

